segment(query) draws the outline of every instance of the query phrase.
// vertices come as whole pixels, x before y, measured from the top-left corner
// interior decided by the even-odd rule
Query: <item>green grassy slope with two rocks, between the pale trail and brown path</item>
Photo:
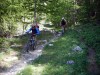
[[[86,47],[78,40],[77,32],[68,30],[61,38],[47,45],[41,57],[33,61],[33,66],[43,66],[39,75],[87,75]],[[72,49],[79,45],[83,50],[74,52]],[[74,64],[67,64],[73,60]],[[35,69],[33,69],[35,71]],[[34,74],[35,75],[35,74]]]

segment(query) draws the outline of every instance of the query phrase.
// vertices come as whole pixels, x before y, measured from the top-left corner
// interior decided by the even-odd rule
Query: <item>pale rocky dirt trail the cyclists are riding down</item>
[[[54,37],[52,39],[50,39],[49,42],[47,42],[46,40],[40,40],[41,42],[44,42],[44,44],[38,45],[36,50],[34,50],[34,51],[30,51],[29,53],[23,53],[21,55],[21,59],[18,62],[13,64],[13,66],[8,68],[6,71],[0,73],[0,75],[16,75],[22,69],[24,69],[28,64],[31,64],[31,62],[33,60],[35,60],[36,58],[38,58],[39,56],[42,55],[42,51],[43,51],[43,48],[45,47],[45,45],[49,44],[50,42],[54,41],[57,38],[58,38],[58,36],[54,35]]]

